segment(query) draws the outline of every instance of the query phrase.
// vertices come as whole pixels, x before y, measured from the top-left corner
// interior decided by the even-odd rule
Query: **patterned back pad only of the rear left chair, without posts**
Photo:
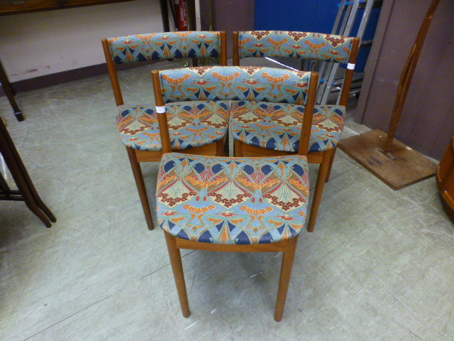
[[[219,32],[165,32],[109,38],[114,63],[221,56]]]

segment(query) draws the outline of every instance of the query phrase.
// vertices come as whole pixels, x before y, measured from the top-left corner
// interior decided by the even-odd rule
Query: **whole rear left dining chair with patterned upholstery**
[[[223,31],[165,32],[103,38],[101,41],[117,105],[118,131],[128,151],[148,229],[153,229],[150,204],[140,163],[161,160],[162,144],[155,104],[123,102],[116,65],[175,58],[192,58],[193,63],[197,63],[197,58],[209,57],[220,58],[221,65],[227,65],[226,33]],[[167,108],[167,116],[172,121],[170,131],[175,150],[187,149],[187,153],[223,155],[221,144],[227,134],[228,116],[222,110],[215,114],[209,110],[210,115],[218,119],[216,124],[213,124],[213,121],[203,119],[207,111],[204,105],[193,106],[186,103],[182,106],[173,103]],[[194,117],[199,118],[197,123],[194,123]],[[206,130],[194,138],[194,132],[191,129],[201,128]]]

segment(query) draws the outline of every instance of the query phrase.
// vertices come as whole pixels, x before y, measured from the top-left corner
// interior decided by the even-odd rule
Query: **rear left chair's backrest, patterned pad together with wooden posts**
[[[138,63],[174,58],[220,58],[227,65],[226,33],[189,31],[136,34],[101,39],[116,104],[123,104],[116,67],[118,64]]]

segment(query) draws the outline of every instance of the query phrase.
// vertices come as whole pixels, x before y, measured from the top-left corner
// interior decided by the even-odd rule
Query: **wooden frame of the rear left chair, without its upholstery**
[[[219,31],[221,36],[221,65],[227,65],[227,48],[226,48],[226,32]],[[106,57],[107,68],[109,70],[109,76],[111,79],[112,89],[114,90],[114,97],[117,107],[124,104],[123,95],[121,94],[120,83],[118,82],[118,76],[116,72],[116,64],[114,58],[112,58],[111,50],[109,48],[109,40],[107,38],[101,39],[101,43]],[[196,58],[192,58],[193,65],[196,66]],[[141,63],[141,62],[137,62]],[[160,104],[164,105],[164,104]],[[223,141],[217,141],[213,144],[206,146],[195,147],[185,149],[185,153],[192,153],[197,155],[218,155],[223,156]],[[135,185],[140,197],[140,202],[143,207],[143,213],[145,214],[145,220],[147,222],[148,229],[154,229],[153,218],[150,210],[150,202],[148,201],[147,190],[145,188],[145,181],[143,180],[143,173],[140,168],[141,162],[160,162],[162,153],[165,151],[139,151],[137,149],[128,148],[128,158],[131,163],[131,169],[133,171]],[[168,151],[166,151],[168,152]],[[183,151],[176,151],[183,152]]]

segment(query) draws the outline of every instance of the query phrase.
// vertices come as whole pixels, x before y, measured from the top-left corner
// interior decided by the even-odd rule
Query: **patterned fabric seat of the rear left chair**
[[[228,101],[175,102],[165,107],[174,150],[212,144],[227,134]],[[117,126],[126,147],[162,150],[155,104],[123,104],[117,109]]]

